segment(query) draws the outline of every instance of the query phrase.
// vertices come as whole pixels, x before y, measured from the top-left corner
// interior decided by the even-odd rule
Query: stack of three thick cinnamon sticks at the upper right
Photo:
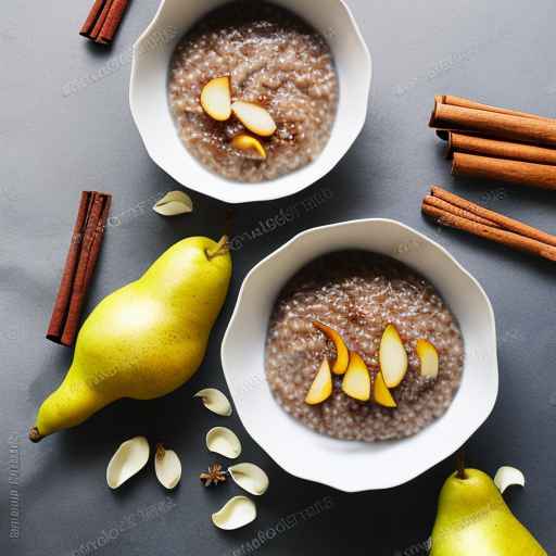
[[[556,119],[444,94],[429,126],[447,140],[454,176],[556,190]]]

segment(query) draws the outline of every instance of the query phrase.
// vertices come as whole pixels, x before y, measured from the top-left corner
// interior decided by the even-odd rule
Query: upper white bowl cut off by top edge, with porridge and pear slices
[[[134,47],[129,96],[159,166],[242,203],[326,175],[363,128],[370,77],[342,0],[163,0]]]

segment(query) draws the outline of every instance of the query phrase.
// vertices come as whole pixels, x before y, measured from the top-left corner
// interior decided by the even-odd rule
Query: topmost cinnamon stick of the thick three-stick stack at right
[[[501,114],[434,102],[430,127],[446,131],[471,131],[500,139],[556,146],[556,121]]]

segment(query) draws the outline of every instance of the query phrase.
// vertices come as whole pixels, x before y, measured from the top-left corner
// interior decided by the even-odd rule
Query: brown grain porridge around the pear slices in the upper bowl
[[[276,123],[257,138],[266,160],[231,140],[245,132],[233,116],[211,118],[203,87],[229,76],[232,101],[265,108]],[[169,105],[185,147],[205,167],[230,180],[275,179],[323,151],[336,117],[338,79],[330,49],[292,12],[265,2],[237,1],[210,13],[180,41],[169,72]]]

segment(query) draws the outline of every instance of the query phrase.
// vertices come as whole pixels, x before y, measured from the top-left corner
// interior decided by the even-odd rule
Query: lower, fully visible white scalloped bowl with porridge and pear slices
[[[486,294],[441,245],[388,219],[307,230],[258,263],[222,362],[245,429],[277,464],[346,492],[425,472],[497,396]]]

